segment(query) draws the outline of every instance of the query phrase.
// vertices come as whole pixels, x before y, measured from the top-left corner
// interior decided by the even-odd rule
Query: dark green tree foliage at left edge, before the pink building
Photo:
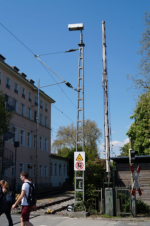
[[[0,91],[0,145],[3,143],[3,134],[9,130],[10,120],[13,113],[5,109],[5,97],[3,92]]]

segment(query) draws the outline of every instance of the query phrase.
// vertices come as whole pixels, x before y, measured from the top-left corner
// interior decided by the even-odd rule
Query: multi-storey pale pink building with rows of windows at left
[[[5,62],[0,55],[0,90],[6,97],[7,110],[13,110],[10,131],[14,138],[5,139],[3,175],[10,180],[14,178],[14,164],[7,159],[13,156],[15,161],[14,141],[19,141],[16,160],[16,182],[21,185],[20,172],[28,171],[35,181],[36,177],[36,146],[37,146],[37,87],[32,79],[19,72],[16,66]],[[38,139],[38,184],[50,184],[49,154],[51,153],[51,104],[55,101],[42,90],[39,92],[39,139]],[[0,152],[1,155],[1,152]]]

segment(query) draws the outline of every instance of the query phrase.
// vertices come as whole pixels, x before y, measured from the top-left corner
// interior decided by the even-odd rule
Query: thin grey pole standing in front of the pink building
[[[38,105],[37,105],[37,117],[36,117],[36,187],[38,186],[38,150],[39,150],[39,87],[40,79],[38,79]]]

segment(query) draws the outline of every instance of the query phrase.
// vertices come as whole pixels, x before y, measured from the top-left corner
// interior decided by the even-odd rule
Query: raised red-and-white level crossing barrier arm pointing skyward
[[[110,139],[109,139],[109,118],[108,118],[108,86],[107,86],[107,59],[106,59],[106,33],[105,21],[102,21],[102,44],[103,44],[103,79],[102,85],[104,88],[104,131],[105,131],[105,150],[106,150],[106,172],[108,173],[108,186],[110,183]]]

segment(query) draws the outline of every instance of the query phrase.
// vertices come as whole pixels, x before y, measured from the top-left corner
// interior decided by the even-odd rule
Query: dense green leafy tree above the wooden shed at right
[[[139,155],[150,155],[150,91],[140,96],[130,117],[134,119],[127,135],[132,138],[133,149]]]

